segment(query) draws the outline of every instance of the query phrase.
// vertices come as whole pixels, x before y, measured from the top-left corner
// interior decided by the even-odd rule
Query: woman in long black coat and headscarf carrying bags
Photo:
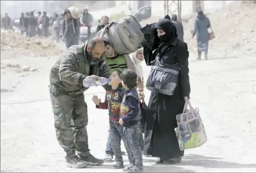
[[[154,58],[165,49],[160,55],[160,62],[170,65],[177,63],[180,73],[172,96],[151,92],[144,133],[144,154],[158,157],[156,164],[176,164],[180,163],[184,154],[179,148],[174,129],[177,127],[176,115],[182,113],[185,100],[190,96],[189,52],[187,44],[177,38],[176,28],[170,20],[160,20],[155,29],[161,42],[153,54]]]

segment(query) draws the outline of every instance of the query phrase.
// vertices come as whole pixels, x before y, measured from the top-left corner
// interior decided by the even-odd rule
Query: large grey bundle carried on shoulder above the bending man
[[[115,21],[104,35],[118,54],[126,54],[137,51],[144,41],[144,34],[140,30],[141,24],[134,15],[127,15]],[[101,35],[99,31],[96,36]]]

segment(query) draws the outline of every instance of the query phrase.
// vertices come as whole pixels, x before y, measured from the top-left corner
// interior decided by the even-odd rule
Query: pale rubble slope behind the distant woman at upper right
[[[210,19],[215,39],[209,42],[209,56],[233,57],[256,53],[256,4],[253,1],[237,1],[214,13],[206,14]],[[190,52],[196,53],[196,36],[192,39],[190,30],[194,18],[184,26],[184,40]],[[221,58],[221,57],[218,57]]]

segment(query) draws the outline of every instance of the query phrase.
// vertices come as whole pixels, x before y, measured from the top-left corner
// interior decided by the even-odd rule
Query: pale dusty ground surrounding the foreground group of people
[[[146,157],[144,171],[256,171],[255,54],[238,48],[237,54],[224,54],[230,42],[222,40],[221,45],[219,52],[210,49],[208,61],[196,61],[193,53],[190,56],[191,102],[200,110],[208,142],[197,149],[186,150],[178,165],[156,166],[153,164],[155,158]],[[112,169],[114,163],[78,170],[65,168],[64,152],[55,138],[48,94],[49,70],[57,58],[22,53],[9,57],[1,51],[1,172],[122,172]],[[7,64],[29,65],[37,70],[23,71],[7,67]],[[149,70],[144,65],[145,77]],[[104,90],[92,87],[85,92],[89,146],[94,156],[103,158],[108,115],[107,111],[94,108],[93,94],[103,99]],[[149,91],[146,90],[148,99]],[[96,121],[98,119],[102,119],[101,124]],[[124,159],[128,164],[127,156]]]

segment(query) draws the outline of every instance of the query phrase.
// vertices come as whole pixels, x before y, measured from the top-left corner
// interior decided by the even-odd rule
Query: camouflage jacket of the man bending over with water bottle
[[[110,76],[110,67],[104,58],[93,60],[85,52],[87,44],[71,46],[53,65],[50,73],[50,83],[58,90],[72,93],[84,92],[86,76]]]

